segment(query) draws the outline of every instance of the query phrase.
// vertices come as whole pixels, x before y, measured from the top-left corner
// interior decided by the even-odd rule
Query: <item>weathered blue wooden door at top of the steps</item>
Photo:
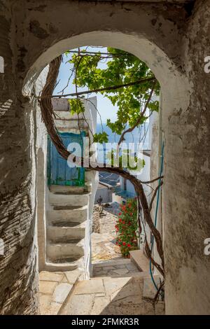
[[[78,143],[83,155],[83,137],[85,137],[85,132],[81,132],[81,134],[60,132],[59,136],[62,138],[66,148],[70,143]],[[48,186],[50,185],[84,186],[85,168],[70,168],[67,161],[57,152],[50,137],[48,137]]]

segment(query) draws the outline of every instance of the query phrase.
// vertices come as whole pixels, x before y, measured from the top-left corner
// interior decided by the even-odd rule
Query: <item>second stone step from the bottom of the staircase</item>
[[[78,243],[59,243],[59,244],[47,244],[47,258],[55,262],[61,258],[74,258],[78,255],[84,255],[83,240],[80,239]]]

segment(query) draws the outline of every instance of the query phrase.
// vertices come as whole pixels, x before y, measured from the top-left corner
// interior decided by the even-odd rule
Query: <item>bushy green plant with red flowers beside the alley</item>
[[[116,223],[116,244],[124,257],[129,257],[131,250],[138,248],[137,244],[137,200],[131,199],[120,205],[118,221]]]

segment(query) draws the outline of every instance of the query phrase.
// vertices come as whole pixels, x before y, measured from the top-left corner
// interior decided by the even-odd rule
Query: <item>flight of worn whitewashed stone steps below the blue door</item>
[[[48,200],[48,269],[66,271],[80,268],[83,265],[89,193],[85,187],[50,186]]]

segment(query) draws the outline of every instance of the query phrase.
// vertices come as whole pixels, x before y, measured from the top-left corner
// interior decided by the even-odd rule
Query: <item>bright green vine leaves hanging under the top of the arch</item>
[[[138,81],[144,78],[153,77],[153,72],[136,56],[116,48],[107,48],[109,55],[104,59],[104,55],[100,51],[95,55],[88,55],[85,50],[81,50],[80,56],[74,53],[70,59],[70,63],[76,68],[76,80],[78,87],[88,87],[90,90],[122,85]],[[100,62],[106,60],[103,68],[99,67]],[[151,92],[153,81],[145,83],[137,83],[129,87],[122,87],[117,90],[102,91],[104,97],[110,99],[113,105],[118,106],[117,120],[111,122],[107,120],[107,126],[116,134],[122,134],[126,127],[132,127],[139,118],[141,109]],[[158,95],[160,85],[156,83],[155,94]],[[148,109],[150,111],[158,111],[158,101],[151,100]],[[139,125],[144,123],[147,116],[142,118]],[[139,126],[138,125],[138,126]],[[104,137],[104,138],[103,138]],[[100,142],[106,141],[105,134],[95,137]]]

